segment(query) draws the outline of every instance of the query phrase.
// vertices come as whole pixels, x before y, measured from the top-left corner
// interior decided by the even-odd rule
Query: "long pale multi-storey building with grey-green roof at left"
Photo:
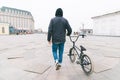
[[[9,29],[14,30],[14,33],[34,32],[34,19],[29,11],[2,7],[0,8],[0,23],[9,24]]]

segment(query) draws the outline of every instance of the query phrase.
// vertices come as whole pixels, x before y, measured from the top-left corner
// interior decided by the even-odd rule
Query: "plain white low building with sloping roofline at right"
[[[120,11],[92,17],[93,34],[120,36]]]

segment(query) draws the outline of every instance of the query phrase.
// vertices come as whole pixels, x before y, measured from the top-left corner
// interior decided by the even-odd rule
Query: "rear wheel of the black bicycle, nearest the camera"
[[[92,61],[86,54],[82,55],[81,57],[81,66],[86,74],[89,75],[90,73],[92,73],[93,70]]]

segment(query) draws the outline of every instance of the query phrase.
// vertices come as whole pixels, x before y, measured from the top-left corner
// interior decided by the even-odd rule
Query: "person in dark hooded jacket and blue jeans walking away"
[[[52,53],[56,63],[56,70],[59,70],[63,60],[64,43],[67,36],[70,36],[72,29],[67,19],[63,17],[63,10],[58,8],[55,13],[55,17],[51,19],[47,40],[49,44],[52,42]]]

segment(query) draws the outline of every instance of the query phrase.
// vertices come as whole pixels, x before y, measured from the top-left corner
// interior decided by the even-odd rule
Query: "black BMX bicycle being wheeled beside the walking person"
[[[86,49],[82,45],[80,45],[80,48],[75,45],[75,42],[78,40],[79,36],[82,36],[82,38],[84,38],[85,35],[69,36],[70,41],[73,43],[73,45],[69,50],[68,56],[72,63],[74,63],[78,58],[78,61],[76,61],[76,63],[80,64],[83,71],[89,75],[93,70],[92,61],[88,55],[84,54],[84,51],[86,51]],[[73,37],[76,39],[72,40]]]

